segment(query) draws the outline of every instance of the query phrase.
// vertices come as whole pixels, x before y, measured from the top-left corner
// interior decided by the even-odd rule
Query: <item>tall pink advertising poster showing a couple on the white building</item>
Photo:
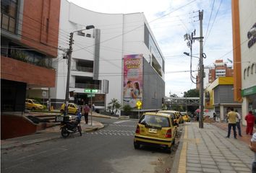
[[[142,54],[124,56],[124,101],[123,105],[136,107],[142,101]]]

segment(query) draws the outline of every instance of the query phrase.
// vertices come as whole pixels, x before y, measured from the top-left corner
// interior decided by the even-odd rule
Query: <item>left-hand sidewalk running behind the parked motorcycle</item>
[[[82,133],[98,130],[103,127],[104,125],[102,123],[99,123],[94,120],[93,120],[93,125],[91,125],[90,120],[88,122],[88,125],[85,124],[85,120],[81,121]],[[78,134],[79,133],[74,133],[74,135],[78,135]],[[38,133],[35,133],[30,136],[22,136],[18,138],[9,138],[7,140],[1,140],[1,149],[10,149],[18,146],[27,146],[29,144],[40,143],[43,141],[50,141],[57,138],[62,138],[59,125],[56,125],[51,128],[46,128],[45,130],[40,130],[38,131]]]

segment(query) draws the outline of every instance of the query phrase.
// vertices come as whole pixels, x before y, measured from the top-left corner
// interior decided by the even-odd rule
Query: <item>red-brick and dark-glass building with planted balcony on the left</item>
[[[54,87],[59,9],[59,0],[1,0],[1,111],[22,112],[28,89]]]

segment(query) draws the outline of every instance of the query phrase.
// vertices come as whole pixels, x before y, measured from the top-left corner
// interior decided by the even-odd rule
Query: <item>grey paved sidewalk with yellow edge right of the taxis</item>
[[[202,129],[198,123],[184,125],[171,172],[251,172],[254,154],[244,143],[249,138],[225,138],[225,126],[213,124],[204,123]]]

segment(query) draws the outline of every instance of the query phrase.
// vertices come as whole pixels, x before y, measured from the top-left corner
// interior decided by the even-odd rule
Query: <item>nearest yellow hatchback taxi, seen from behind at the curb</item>
[[[176,128],[170,115],[155,112],[146,112],[137,124],[134,147],[140,145],[160,146],[171,152],[175,143]]]

